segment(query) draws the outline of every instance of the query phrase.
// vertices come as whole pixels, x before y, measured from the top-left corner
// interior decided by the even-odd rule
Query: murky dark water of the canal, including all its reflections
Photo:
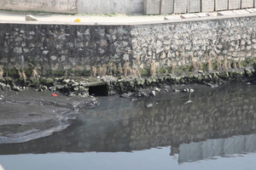
[[[188,94],[174,92],[101,97],[62,132],[0,144],[0,163],[7,170],[254,169],[256,86],[193,88],[189,104]]]

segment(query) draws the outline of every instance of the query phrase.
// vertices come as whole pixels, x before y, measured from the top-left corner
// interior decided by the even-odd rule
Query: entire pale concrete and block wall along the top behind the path
[[[183,14],[256,8],[256,0],[0,0],[0,9],[70,14]]]

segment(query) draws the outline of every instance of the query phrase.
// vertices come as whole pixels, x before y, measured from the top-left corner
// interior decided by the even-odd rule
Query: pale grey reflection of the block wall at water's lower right
[[[178,162],[199,161],[214,156],[230,156],[256,152],[256,135],[239,135],[228,139],[207,139],[201,142],[181,144]]]

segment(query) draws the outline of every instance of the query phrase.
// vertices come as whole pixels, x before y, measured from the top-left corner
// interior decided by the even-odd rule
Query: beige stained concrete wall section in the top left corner
[[[77,13],[77,0],[0,0],[0,9]]]

